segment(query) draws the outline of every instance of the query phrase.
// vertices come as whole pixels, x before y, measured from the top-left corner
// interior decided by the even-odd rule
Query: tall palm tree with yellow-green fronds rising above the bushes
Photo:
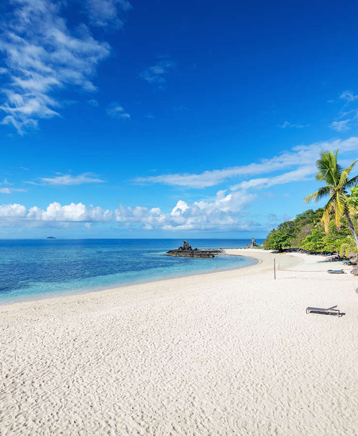
[[[334,214],[334,221],[337,230],[341,228],[341,220],[343,217],[347,218],[349,228],[353,234],[354,241],[358,248],[358,237],[354,230],[351,215],[357,213],[354,205],[349,204],[349,195],[347,189],[354,187],[358,183],[358,176],[349,179],[349,174],[353,170],[354,165],[358,161],[356,159],[349,167],[342,169],[341,165],[337,162],[337,154],[333,152],[322,152],[320,159],[317,160],[316,166],[318,173],[316,180],[324,182],[326,186],[321,187],[318,191],[308,195],[304,202],[311,201],[318,202],[324,197],[330,197],[326,206],[324,207],[323,216],[321,221],[325,225],[326,234],[329,230],[329,222],[332,214]]]

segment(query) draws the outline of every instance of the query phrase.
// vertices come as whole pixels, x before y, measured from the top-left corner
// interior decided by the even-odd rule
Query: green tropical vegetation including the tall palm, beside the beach
[[[265,249],[340,252],[346,257],[358,253],[358,176],[350,177],[358,159],[343,169],[337,155],[338,150],[321,153],[316,162],[316,179],[325,186],[304,199],[305,202],[318,202],[327,197],[326,205],[315,211],[306,210],[296,218],[281,223],[266,237],[263,243]]]

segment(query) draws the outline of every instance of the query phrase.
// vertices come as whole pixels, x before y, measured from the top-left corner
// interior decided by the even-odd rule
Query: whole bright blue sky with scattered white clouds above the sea
[[[357,12],[1,2],[0,237],[264,237],[357,157]]]

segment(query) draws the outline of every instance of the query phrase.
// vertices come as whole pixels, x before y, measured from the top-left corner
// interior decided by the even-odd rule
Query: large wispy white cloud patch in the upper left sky
[[[1,23],[0,50],[8,78],[1,89],[0,109],[5,112],[1,123],[23,134],[36,128],[38,119],[59,116],[62,103],[52,96],[53,91],[68,86],[95,91],[91,78],[110,48],[96,41],[84,24],[71,31],[60,15],[63,2],[13,3],[12,16]]]

